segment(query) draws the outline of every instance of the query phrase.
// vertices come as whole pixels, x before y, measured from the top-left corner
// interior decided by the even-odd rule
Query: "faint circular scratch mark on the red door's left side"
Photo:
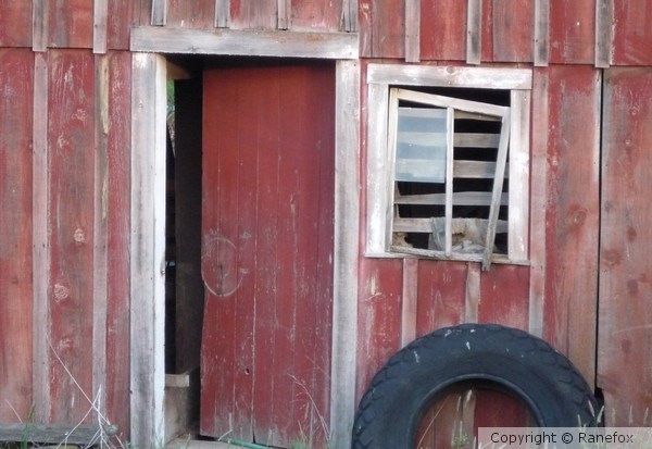
[[[217,232],[204,235],[201,252],[201,277],[212,295],[230,296],[242,282],[244,270],[238,269],[238,250],[233,241]]]

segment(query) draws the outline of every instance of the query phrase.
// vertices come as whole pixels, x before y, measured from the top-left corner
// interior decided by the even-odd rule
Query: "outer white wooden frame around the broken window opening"
[[[531,71],[526,68],[415,66],[369,64],[367,66],[367,154],[366,154],[366,257],[405,258],[392,251],[391,223],[388,216],[393,203],[393,147],[390,133],[390,89],[392,87],[459,87],[510,91],[510,176],[509,183],[509,253],[432,254],[415,251],[415,255],[446,260],[478,261],[487,270],[491,262],[527,264],[529,230],[529,129]]]

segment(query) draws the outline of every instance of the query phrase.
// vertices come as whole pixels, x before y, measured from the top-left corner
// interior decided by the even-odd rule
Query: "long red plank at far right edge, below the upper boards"
[[[605,72],[598,385],[606,425],[644,426],[652,407],[652,70]]]

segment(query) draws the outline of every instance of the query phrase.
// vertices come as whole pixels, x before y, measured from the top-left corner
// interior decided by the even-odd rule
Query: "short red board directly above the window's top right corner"
[[[532,61],[535,0],[494,0],[492,8],[492,61]]]

